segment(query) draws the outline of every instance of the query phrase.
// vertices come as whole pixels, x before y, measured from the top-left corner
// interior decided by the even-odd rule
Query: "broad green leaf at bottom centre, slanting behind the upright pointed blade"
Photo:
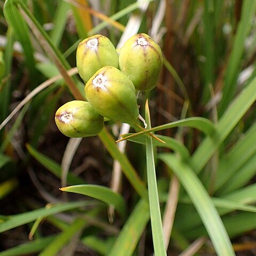
[[[148,221],[148,203],[145,200],[140,199],[129,219],[126,220],[125,225],[116,238],[116,242],[108,253],[108,256],[132,256]]]

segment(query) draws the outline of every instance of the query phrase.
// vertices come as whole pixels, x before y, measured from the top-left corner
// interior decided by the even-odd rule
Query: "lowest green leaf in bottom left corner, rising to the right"
[[[23,243],[6,251],[0,252],[0,256],[21,256],[37,253],[43,250],[54,238],[55,235],[38,238],[35,241]]]

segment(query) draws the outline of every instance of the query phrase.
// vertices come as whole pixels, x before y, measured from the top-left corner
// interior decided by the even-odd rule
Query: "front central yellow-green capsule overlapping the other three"
[[[115,67],[99,69],[86,83],[85,95],[104,117],[121,123],[134,123],[139,116],[135,88]]]

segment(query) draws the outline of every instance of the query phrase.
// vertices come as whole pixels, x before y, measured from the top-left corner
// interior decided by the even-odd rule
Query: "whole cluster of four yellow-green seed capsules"
[[[162,68],[162,52],[146,34],[129,38],[119,55],[102,35],[84,39],[76,63],[84,80],[86,101],[70,101],[55,115],[59,130],[68,137],[89,137],[103,129],[104,118],[133,124],[139,116],[136,90],[150,91]]]

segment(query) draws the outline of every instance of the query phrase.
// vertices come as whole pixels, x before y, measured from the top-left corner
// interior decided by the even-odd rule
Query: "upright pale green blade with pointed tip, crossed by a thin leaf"
[[[148,107],[148,100],[145,106],[146,123],[148,129],[151,128],[150,113]],[[161,211],[159,205],[156,170],[155,170],[155,158],[152,138],[146,137],[146,158],[147,158],[147,180],[148,180],[148,198],[149,198],[149,210],[151,229],[153,236],[154,252],[156,256],[167,255],[164,246],[163,225],[161,219]]]

